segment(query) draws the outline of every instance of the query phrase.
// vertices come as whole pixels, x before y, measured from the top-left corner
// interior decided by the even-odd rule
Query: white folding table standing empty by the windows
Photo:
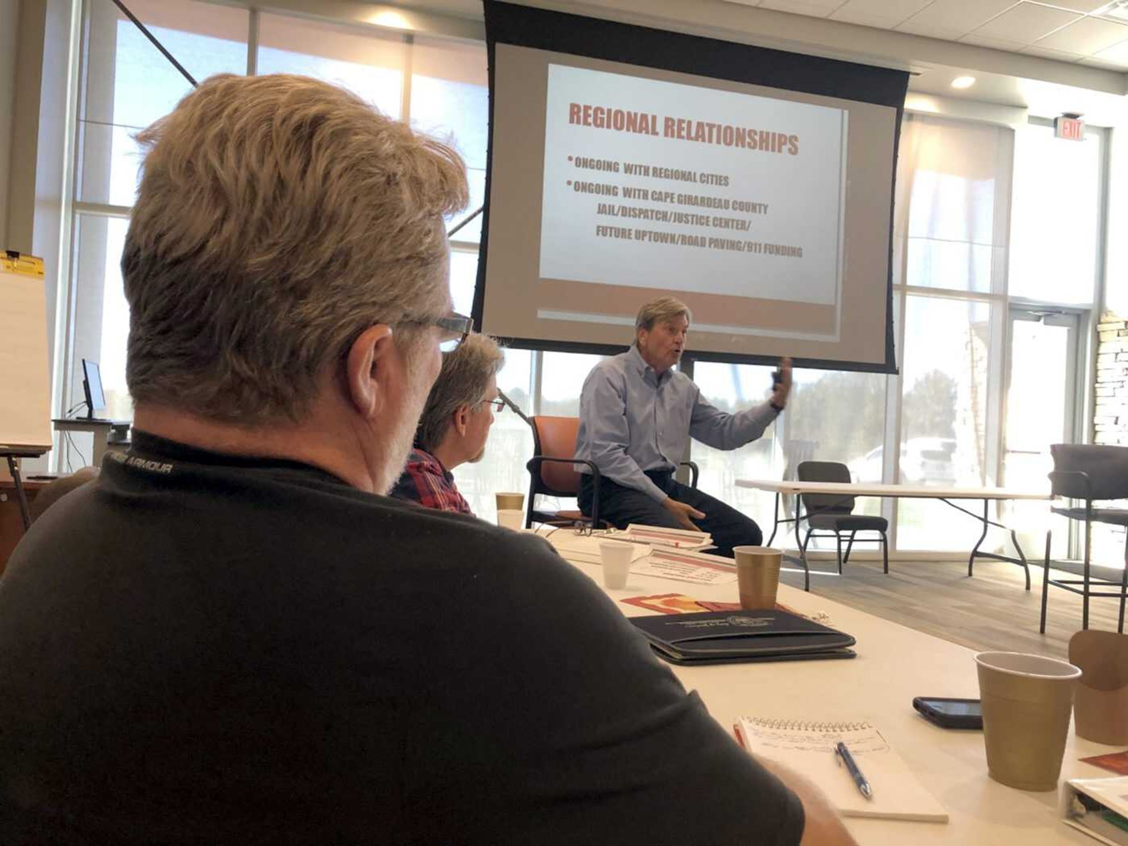
[[[976,541],[975,548],[971,550],[971,555],[968,556],[968,575],[971,575],[971,569],[975,564],[976,557],[1006,561],[1012,564],[1017,564],[1023,569],[1023,571],[1025,571],[1026,590],[1030,590],[1030,565],[1026,563],[1025,553],[1022,552],[1022,546],[1019,544],[1019,537],[1015,535],[1014,529],[990,519],[990,503],[992,501],[998,500],[1050,499],[1049,493],[1030,493],[1026,491],[1013,491],[1006,487],[931,487],[926,485],[854,484],[846,482],[784,482],[781,479],[737,479],[737,486],[752,487],[758,491],[770,491],[775,493],[775,522],[772,526],[772,537],[768,538],[767,545],[772,545],[781,523],[794,523],[795,545],[799,549],[799,555],[787,555],[786,557],[788,561],[794,561],[803,566],[804,590],[811,589],[811,570],[807,563],[807,554],[803,550],[803,544],[799,538],[799,523],[803,520],[801,494],[825,494],[830,496],[840,495],[843,497],[843,502],[847,502],[854,496],[883,496],[901,500],[940,500],[941,502],[951,505],[957,511],[962,511],[964,514],[979,520],[984,525],[982,534],[979,536],[979,540]],[[792,518],[779,518],[779,496],[783,494],[790,494],[795,497],[795,515]],[[982,515],[980,517],[962,505],[958,505],[953,502],[953,500],[982,500]],[[832,505],[830,508],[832,508]],[[979,547],[987,537],[987,529],[992,526],[1011,532],[1011,540],[1014,543],[1014,548],[1019,553],[1017,558],[1013,558],[1008,555],[999,555],[998,553],[979,552]]]

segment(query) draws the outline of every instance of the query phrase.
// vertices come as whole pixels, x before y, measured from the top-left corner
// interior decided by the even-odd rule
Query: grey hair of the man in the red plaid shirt
[[[488,335],[472,334],[442,356],[442,370],[431,386],[420,417],[416,441],[433,452],[453,425],[453,414],[464,405],[481,403],[491,377],[497,374],[505,356]]]

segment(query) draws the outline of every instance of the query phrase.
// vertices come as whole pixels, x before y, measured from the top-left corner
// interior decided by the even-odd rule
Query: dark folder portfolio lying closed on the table
[[[706,611],[632,617],[654,651],[672,663],[854,658],[854,638],[787,611]]]

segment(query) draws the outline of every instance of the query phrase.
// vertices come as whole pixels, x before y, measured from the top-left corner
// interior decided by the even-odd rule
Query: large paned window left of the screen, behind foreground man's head
[[[113,3],[87,8],[73,221],[72,377],[64,407],[82,399],[80,361],[90,359],[102,367],[107,413],[129,418],[129,310],[118,265],[141,160],[134,136],[171,111],[192,86]],[[317,77],[347,88],[385,114],[440,134],[466,158],[472,203],[481,203],[485,45],[265,12],[257,16],[254,41],[247,9],[194,0],[134,0],[130,8],[196,80],[245,73],[248,67],[257,73]],[[461,230],[451,256],[455,305],[466,314],[474,297],[479,230],[479,222]],[[86,440],[76,435],[80,449]],[[82,451],[89,456],[88,449]]]

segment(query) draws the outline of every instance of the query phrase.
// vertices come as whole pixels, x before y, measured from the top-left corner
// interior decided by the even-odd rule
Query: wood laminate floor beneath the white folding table
[[[1021,567],[987,559],[976,562],[971,578],[967,561],[893,561],[889,575],[875,561],[852,561],[841,576],[830,575],[834,570],[832,561],[812,562],[812,593],[977,651],[1066,658],[1081,629],[1081,597],[1050,585],[1046,634],[1038,633],[1041,566],[1030,567],[1030,591]],[[784,572],[782,580],[803,587],[802,572]],[[1116,632],[1119,610],[1117,599],[1090,599],[1089,627]]]

